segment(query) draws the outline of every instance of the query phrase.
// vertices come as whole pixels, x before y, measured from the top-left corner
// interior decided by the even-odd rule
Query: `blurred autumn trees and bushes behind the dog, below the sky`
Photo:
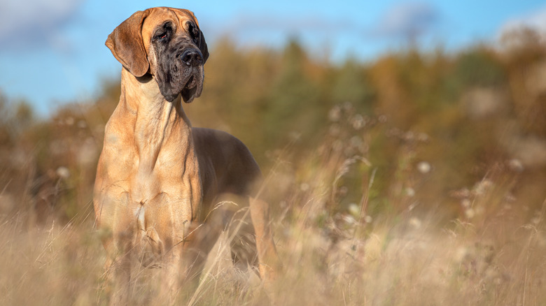
[[[521,205],[540,207],[546,48],[537,35],[520,29],[497,48],[410,49],[343,63],[313,57],[295,40],[282,50],[220,41],[202,97],[184,107],[194,126],[243,140],[264,173],[287,189],[312,183],[305,167],[329,169],[336,177],[327,187],[332,213],[365,197],[372,215],[413,203],[463,218],[455,191],[493,176],[510,182]],[[1,214],[26,208],[38,223],[66,222],[92,210],[104,124],[119,86],[104,81],[97,99],[75,101],[48,119],[34,118],[25,101],[0,97]],[[346,163],[358,166],[339,172]]]

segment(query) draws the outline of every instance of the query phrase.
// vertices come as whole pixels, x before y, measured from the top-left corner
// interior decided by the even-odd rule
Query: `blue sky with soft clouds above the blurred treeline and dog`
[[[229,36],[241,46],[279,48],[297,37],[311,54],[372,60],[415,36],[421,48],[460,50],[495,43],[514,24],[546,30],[546,1],[104,1],[2,0],[0,94],[25,99],[38,115],[67,101],[85,101],[121,65],[106,36],[136,10],[193,10],[209,47]],[[211,54],[214,56],[214,54]]]

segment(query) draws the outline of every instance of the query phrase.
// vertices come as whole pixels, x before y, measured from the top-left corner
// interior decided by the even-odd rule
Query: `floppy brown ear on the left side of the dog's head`
[[[145,75],[150,66],[142,41],[142,24],[146,17],[148,10],[134,13],[112,31],[105,43],[113,56],[137,77]]]

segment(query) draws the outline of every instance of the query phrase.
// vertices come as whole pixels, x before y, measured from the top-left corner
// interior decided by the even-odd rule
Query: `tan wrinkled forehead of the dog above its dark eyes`
[[[197,24],[195,15],[189,10],[183,10],[180,8],[149,8],[148,17],[142,24],[142,38],[146,50],[150,44],[151,38],[155,34],[158,28],[162,27],[165,22],[172,22],[174,31],[179,33],[180,31],[186,31],[188,25],[186,22],[191,20]]]

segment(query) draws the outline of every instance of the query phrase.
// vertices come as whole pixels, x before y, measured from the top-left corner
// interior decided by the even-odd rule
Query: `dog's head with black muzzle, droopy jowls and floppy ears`
[[[106,47],[132,75],[153,75],[167,101],[181,94],[190,103],[201,95],[209,50],[190,10],[138,11],[112,31]]]

